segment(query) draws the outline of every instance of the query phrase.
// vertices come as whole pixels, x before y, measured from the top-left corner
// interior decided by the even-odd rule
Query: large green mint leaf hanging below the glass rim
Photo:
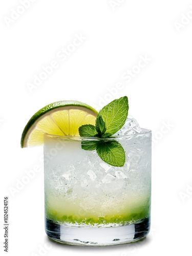
[[[113,166],[122,167],[125,163],[125,152],[116,140],[98,142],[97,154],[105,163]]]

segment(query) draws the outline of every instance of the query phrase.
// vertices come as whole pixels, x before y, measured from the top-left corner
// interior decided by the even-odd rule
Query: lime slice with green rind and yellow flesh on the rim
[[[49,104],[31,117],[22,134],[21,146],[39,146],[44,134],[79,136],[83,124],[95,125],[98,112],[79,101],[58,101]]]

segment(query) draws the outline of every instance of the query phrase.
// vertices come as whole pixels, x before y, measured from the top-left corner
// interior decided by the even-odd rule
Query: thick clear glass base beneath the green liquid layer
[[[48,237],[62,244],[78,246],[107,246],[135,242],[150,231],[150,218],[137,224],[118,227],[70,227],[46,219]]]

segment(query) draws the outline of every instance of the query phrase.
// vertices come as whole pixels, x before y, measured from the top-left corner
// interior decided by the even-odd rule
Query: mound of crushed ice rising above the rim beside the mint
[[[123,136],[123,135],[132,135],[142,133],[142,129],[140,128],[137,120],[132,116],[128,116],[123,127],[114,135]]]

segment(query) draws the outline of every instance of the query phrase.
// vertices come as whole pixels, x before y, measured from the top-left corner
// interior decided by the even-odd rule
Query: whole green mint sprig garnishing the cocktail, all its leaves
[[[121,144],[115,139],[104,140],[110,138],[118,132],[124,125],[129,110],[127,97],[115,99],[99,111],[95,126],[85,124],[79,127],[79,135],[81,137],[98,137],[103,140],[82,141],[83,150],[96,150],[98,156],[112,166],[121,167],[125,163],[125,152]]]

